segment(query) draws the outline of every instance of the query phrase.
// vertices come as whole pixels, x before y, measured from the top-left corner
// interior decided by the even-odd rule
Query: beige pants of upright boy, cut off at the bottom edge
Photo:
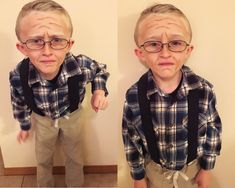
[[[190,165],[186,165],[179,174],[177,174],[177,184],[179,188],[197,188],[194,182],[199,171],[197,160],[194,160]],[[183,173],[183,175],[181,174]],[[184,179],[184,174],[189,178],[188,181]],[[174,173],[159,164],[150,161],[146,166],[146,176],[148,188],[174,188],[173,176]]]

